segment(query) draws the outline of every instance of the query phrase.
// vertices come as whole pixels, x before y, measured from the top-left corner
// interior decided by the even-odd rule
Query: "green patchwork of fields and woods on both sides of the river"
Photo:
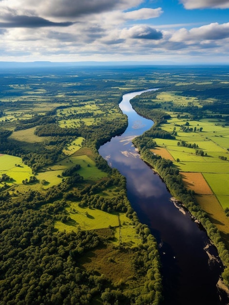
[[[133,143],[207,231],[229,287],[227,66],[10,67],[0,80],[0,305],[162,302],[156,238],[98,153],[128,125],[123,94],[151,88],[130,101],[154,121]]]

